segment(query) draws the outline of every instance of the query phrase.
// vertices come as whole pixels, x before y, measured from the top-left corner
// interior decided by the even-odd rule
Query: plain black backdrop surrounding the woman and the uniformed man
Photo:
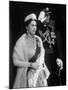
[[[17,67],[13,65],[13,47],[16,40],[26,32],[24,18],[30,13],[36,13],[38,17],[39,12],[46,7],[49,7],[52,11],[56,30],[61,33],[64,62],[63,85],[66,84],[66,5],[9,1],[9,88],[13,86],[17,70]]]

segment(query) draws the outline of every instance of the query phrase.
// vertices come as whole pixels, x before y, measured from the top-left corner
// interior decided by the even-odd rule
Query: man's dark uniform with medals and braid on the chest
[[[43,46],[45,48],[45,64],[51,73],[48,79],[48,86],[58,86],[60,85],[60,77],[56,59],[60,58],[62,60],[62,42],[60,34],[54,30],[53,20],[49,23],[40,23],[39,28],[39,35],[43,40]]]

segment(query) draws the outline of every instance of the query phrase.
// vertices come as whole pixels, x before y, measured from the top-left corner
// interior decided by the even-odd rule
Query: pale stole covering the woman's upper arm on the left
[[[23,53],[23,49],[22,49],[22,42],[19,39],[15,46],[14,46],[14,50],[13,50],[13,62],[14,65],[17,65],[18,61],[24,61],[24,53]]]

